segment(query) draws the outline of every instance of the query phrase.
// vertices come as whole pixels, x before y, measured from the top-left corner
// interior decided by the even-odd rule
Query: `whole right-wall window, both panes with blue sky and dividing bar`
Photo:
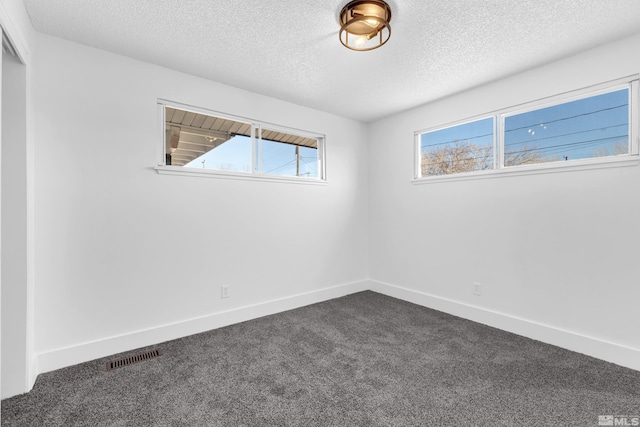
[[[484,119],[418,131],[415,176],[470,176],[491,169],[526,172],[637,158],[638,98],[636,76],[590,92],[565,94],[555,102],[549,98],[544,104],[531,102]],[[474,127],[482,129],[483,122],[487,132],[475,132]],[[494,127],[489,134],[491,122]],[[487,140],[477,143],[483,138]],[[485,157],[490,152],[489,139],[496,141],[491,159]]]

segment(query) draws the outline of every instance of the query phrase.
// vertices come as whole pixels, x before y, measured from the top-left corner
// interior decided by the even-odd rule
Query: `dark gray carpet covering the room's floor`
[[[40,375],[6,426],[597,426],[640,372],[373,292]]]

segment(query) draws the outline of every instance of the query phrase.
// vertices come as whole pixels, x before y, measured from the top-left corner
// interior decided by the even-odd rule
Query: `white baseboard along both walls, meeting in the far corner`
[[[639,349],[412,289],[375,280],[364,280],[46,351],[37,355],[37,372],[45,373],[112,354],[182,338],[365,290],[378,292],[631,369],[640,370]]]

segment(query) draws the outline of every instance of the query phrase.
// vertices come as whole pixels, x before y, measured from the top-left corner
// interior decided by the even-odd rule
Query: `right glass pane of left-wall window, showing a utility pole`
[[[318,140],[263,129],[262,173],[318,178]]]

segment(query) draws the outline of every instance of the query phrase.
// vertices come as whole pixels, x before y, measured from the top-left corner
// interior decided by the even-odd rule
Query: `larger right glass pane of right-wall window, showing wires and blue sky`
[[[505,117],[504,165],[629,153],[629,91]]]

